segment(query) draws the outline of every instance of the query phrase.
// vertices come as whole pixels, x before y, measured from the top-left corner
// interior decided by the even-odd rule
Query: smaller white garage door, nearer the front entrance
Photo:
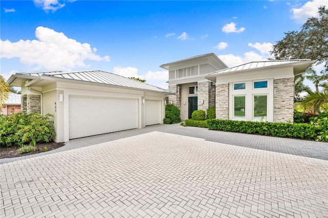
[[[146,114],[146,126],[160,123],[160,101],[148,100],[145,101],[145,114]]]

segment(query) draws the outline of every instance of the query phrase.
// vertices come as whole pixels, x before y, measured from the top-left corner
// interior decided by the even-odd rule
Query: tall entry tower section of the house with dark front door
[[[215,106],[215,83],[205,78],[209,73],[228,68],[214,53],[199,55],[160,66],[169,71],[169,102],[177,105],[181,119],[191,118],[196,110]]]

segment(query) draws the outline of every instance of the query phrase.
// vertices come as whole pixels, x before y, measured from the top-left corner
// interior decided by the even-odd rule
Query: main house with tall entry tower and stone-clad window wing
[[[217,119],[293,122],[294,81],[314,62],[268,60],[227,68],[211,53],[160,67],[169,70],[169,91],[176,93],[169,103],[180,108],[182,120],[216,106]]]

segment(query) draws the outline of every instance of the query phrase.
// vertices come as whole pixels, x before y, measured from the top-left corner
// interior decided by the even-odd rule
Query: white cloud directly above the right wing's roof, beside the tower
[[[240,64],[252,62],[252,61],[262,61],[268,60],[267,57],[259,55],[255,52],[246,52],[243,56],[236,56],[233,54],[219,55],[218,56],[228,67],[238,66]]]

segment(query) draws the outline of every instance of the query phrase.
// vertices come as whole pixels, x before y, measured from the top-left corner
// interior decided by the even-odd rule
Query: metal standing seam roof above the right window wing
[[[279,66],[282,64],[296,63],[296,62],[309,61],[309,60],[311,60],[311,59],[253,61],[253,62],[241,64],[236,67],[219,70],[214,73],[208,74],[208,76],[212,76],[212,75],[216,75],[216,74],[232,73],[232,72],[236,72],[236,71],[253,70],[253,69],[258,69],[258,68]]]

